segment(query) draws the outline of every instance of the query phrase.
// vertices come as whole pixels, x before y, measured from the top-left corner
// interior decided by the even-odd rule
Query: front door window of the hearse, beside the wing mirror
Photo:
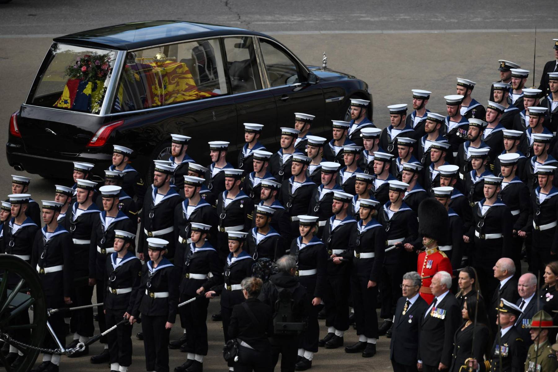
[[[275,42],[264,38],[259,39],[259,47],[271,86],[299,83],[299,64],[291,55]]]

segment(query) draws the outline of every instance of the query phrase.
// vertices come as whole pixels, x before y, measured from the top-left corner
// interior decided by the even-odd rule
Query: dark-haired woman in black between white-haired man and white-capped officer
[[[488,355],[488,317],[482,296],[478,296],[478,301],[477,296],[468,296],[463,303],[461,315],[465,322],[455,332],[450,372],[459,372],[461,366],[465,365],[466,359],[483,360],[483,355],[485,353]],[[475,337],[474,345],[473,335]]]

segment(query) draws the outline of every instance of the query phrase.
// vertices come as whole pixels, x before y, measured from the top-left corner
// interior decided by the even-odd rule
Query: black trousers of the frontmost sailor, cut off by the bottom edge
[[[145,349],[145,368],[148,371],[169,372],[169,337],[167,316],[143,315],[141,328]]]

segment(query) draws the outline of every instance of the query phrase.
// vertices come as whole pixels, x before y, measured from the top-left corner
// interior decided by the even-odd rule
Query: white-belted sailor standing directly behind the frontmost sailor
[[[170,180],[174,168],[169,165],[157,163],[153,168],[153,185],[147,190],[141,216],[140,238],[138,239],[138,253],[140,259],[147,258],[147,238],[157,237],[166,240],[165,249],[161,254],[171,260],[175,254],[174,239],[174,210],[182,198],[171,187]]]

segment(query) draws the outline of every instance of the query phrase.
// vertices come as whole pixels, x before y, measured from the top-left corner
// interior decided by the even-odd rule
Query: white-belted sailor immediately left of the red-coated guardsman
[[[396,180],[386,183],[388,183],[389,199],[379,211],[378,222],[386,229],[386,241],[384,242],[386,249],[397,248],[386,253],[382,266],[380,316],[384,321],[379,328],[380,336],[385,335],[393,325],[395,306],[397,299],[401,297],[399,295],[401,277],[409,266],[416,264],[416,254],[413,252],[411,244],[406,245],[406,243],[411,243],[416,239],[418,229],[416,213],[403,201],[409,185]],[[406,247],[403,248],[402,245],[406,245]]]

